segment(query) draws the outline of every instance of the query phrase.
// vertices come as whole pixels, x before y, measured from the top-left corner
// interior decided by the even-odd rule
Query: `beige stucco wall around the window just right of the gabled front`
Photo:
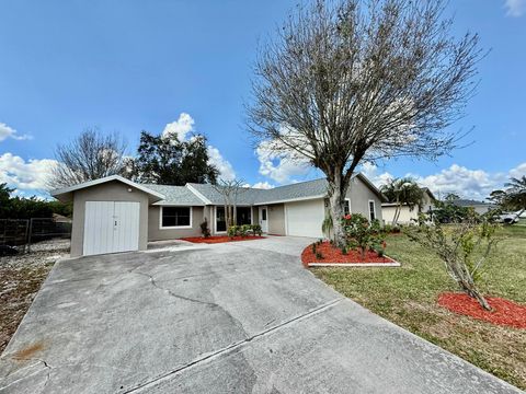
[[[160,229],[161,207],[150,206],[148,210],[148,241],[167,241],[185,236],[201,236],[201,227],[203,222],[204,207],[192,208],[192,228],[191,229]],[[208,218],[207,218],[208,219]],[[208,224],[209,225],[209,224]]]

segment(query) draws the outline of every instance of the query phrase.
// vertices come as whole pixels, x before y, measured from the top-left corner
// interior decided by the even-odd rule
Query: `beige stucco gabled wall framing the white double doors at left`
[[[128,192],[132,190],[132,192]],[[71,257],[82,255],[84,243],[85,201],[134,201],[140,204],[139,250],[148,243],[148,195],[118,181],[87,187],[73,193],[73,223],[71,228]]]

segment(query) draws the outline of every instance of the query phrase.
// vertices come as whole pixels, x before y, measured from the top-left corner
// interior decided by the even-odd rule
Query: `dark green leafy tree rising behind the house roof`
[[[216,184],[219,171],[209,163],[206,138],[180,141],[175,135],[140,134],[137,158],[127,162],[127,176],[159,185]]]

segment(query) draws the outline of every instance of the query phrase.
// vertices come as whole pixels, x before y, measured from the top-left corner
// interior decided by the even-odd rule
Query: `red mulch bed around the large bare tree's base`
[[[307,246],[301,253],[301,262],[304,266],[308,267],[309,263],[393,263],[389,257],[379,257],[376,252],[367,251],[365,259],[358,251],[348,251],[346,255],[342,254],[339,247],[334,247],[330,242],[323,242],[316,246],[317,252],[321,252],[322,259],[316,258],[312,253],[312,245]]]

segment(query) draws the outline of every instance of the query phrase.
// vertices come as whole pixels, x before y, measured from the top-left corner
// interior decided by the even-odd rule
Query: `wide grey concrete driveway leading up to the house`
[[[0,393],[518,393],[361,308],[270,237],[53,269]]]

